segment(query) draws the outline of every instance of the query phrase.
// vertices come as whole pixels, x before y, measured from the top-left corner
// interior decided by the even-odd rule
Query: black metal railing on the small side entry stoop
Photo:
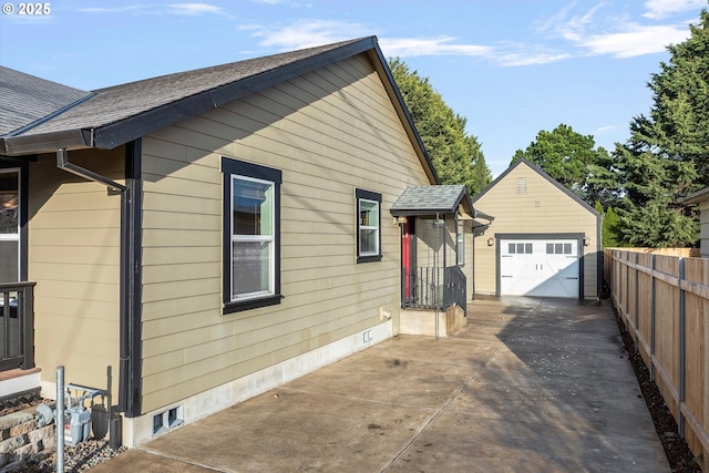
[[[465,275],[458,266],[402,268],[402,307],[444,310],[459,305],[465,310]]]

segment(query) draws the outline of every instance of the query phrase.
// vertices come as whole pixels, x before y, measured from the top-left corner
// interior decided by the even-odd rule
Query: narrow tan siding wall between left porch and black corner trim
[[[71,162],[110,178],[124,175],[124,148],[70,152]],[[56,167],[54,155],[29,166],[28,276],[34,289],[35,363],[53,380],[117,392],[121,196]],[[50,392],[51,395],[51,392]]]

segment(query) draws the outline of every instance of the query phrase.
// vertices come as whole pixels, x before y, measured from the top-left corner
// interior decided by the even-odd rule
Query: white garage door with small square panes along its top
[[[500,294],[578,298],[578,241],[501,239]]]

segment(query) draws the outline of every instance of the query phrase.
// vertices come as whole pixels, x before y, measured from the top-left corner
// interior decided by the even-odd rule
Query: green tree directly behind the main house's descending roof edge
[[[465,117],[399,58],[389,60],[389,69],[442,184],[464,184],[470,195],[477,194],[492,175],[477,138],[465,133]]]

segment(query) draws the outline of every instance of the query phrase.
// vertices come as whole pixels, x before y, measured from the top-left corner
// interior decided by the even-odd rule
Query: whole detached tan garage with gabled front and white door
[[[598,297],[602,216],[538,166],[515,162],[473,204],[495,216],[475,238],[477,294]]]

